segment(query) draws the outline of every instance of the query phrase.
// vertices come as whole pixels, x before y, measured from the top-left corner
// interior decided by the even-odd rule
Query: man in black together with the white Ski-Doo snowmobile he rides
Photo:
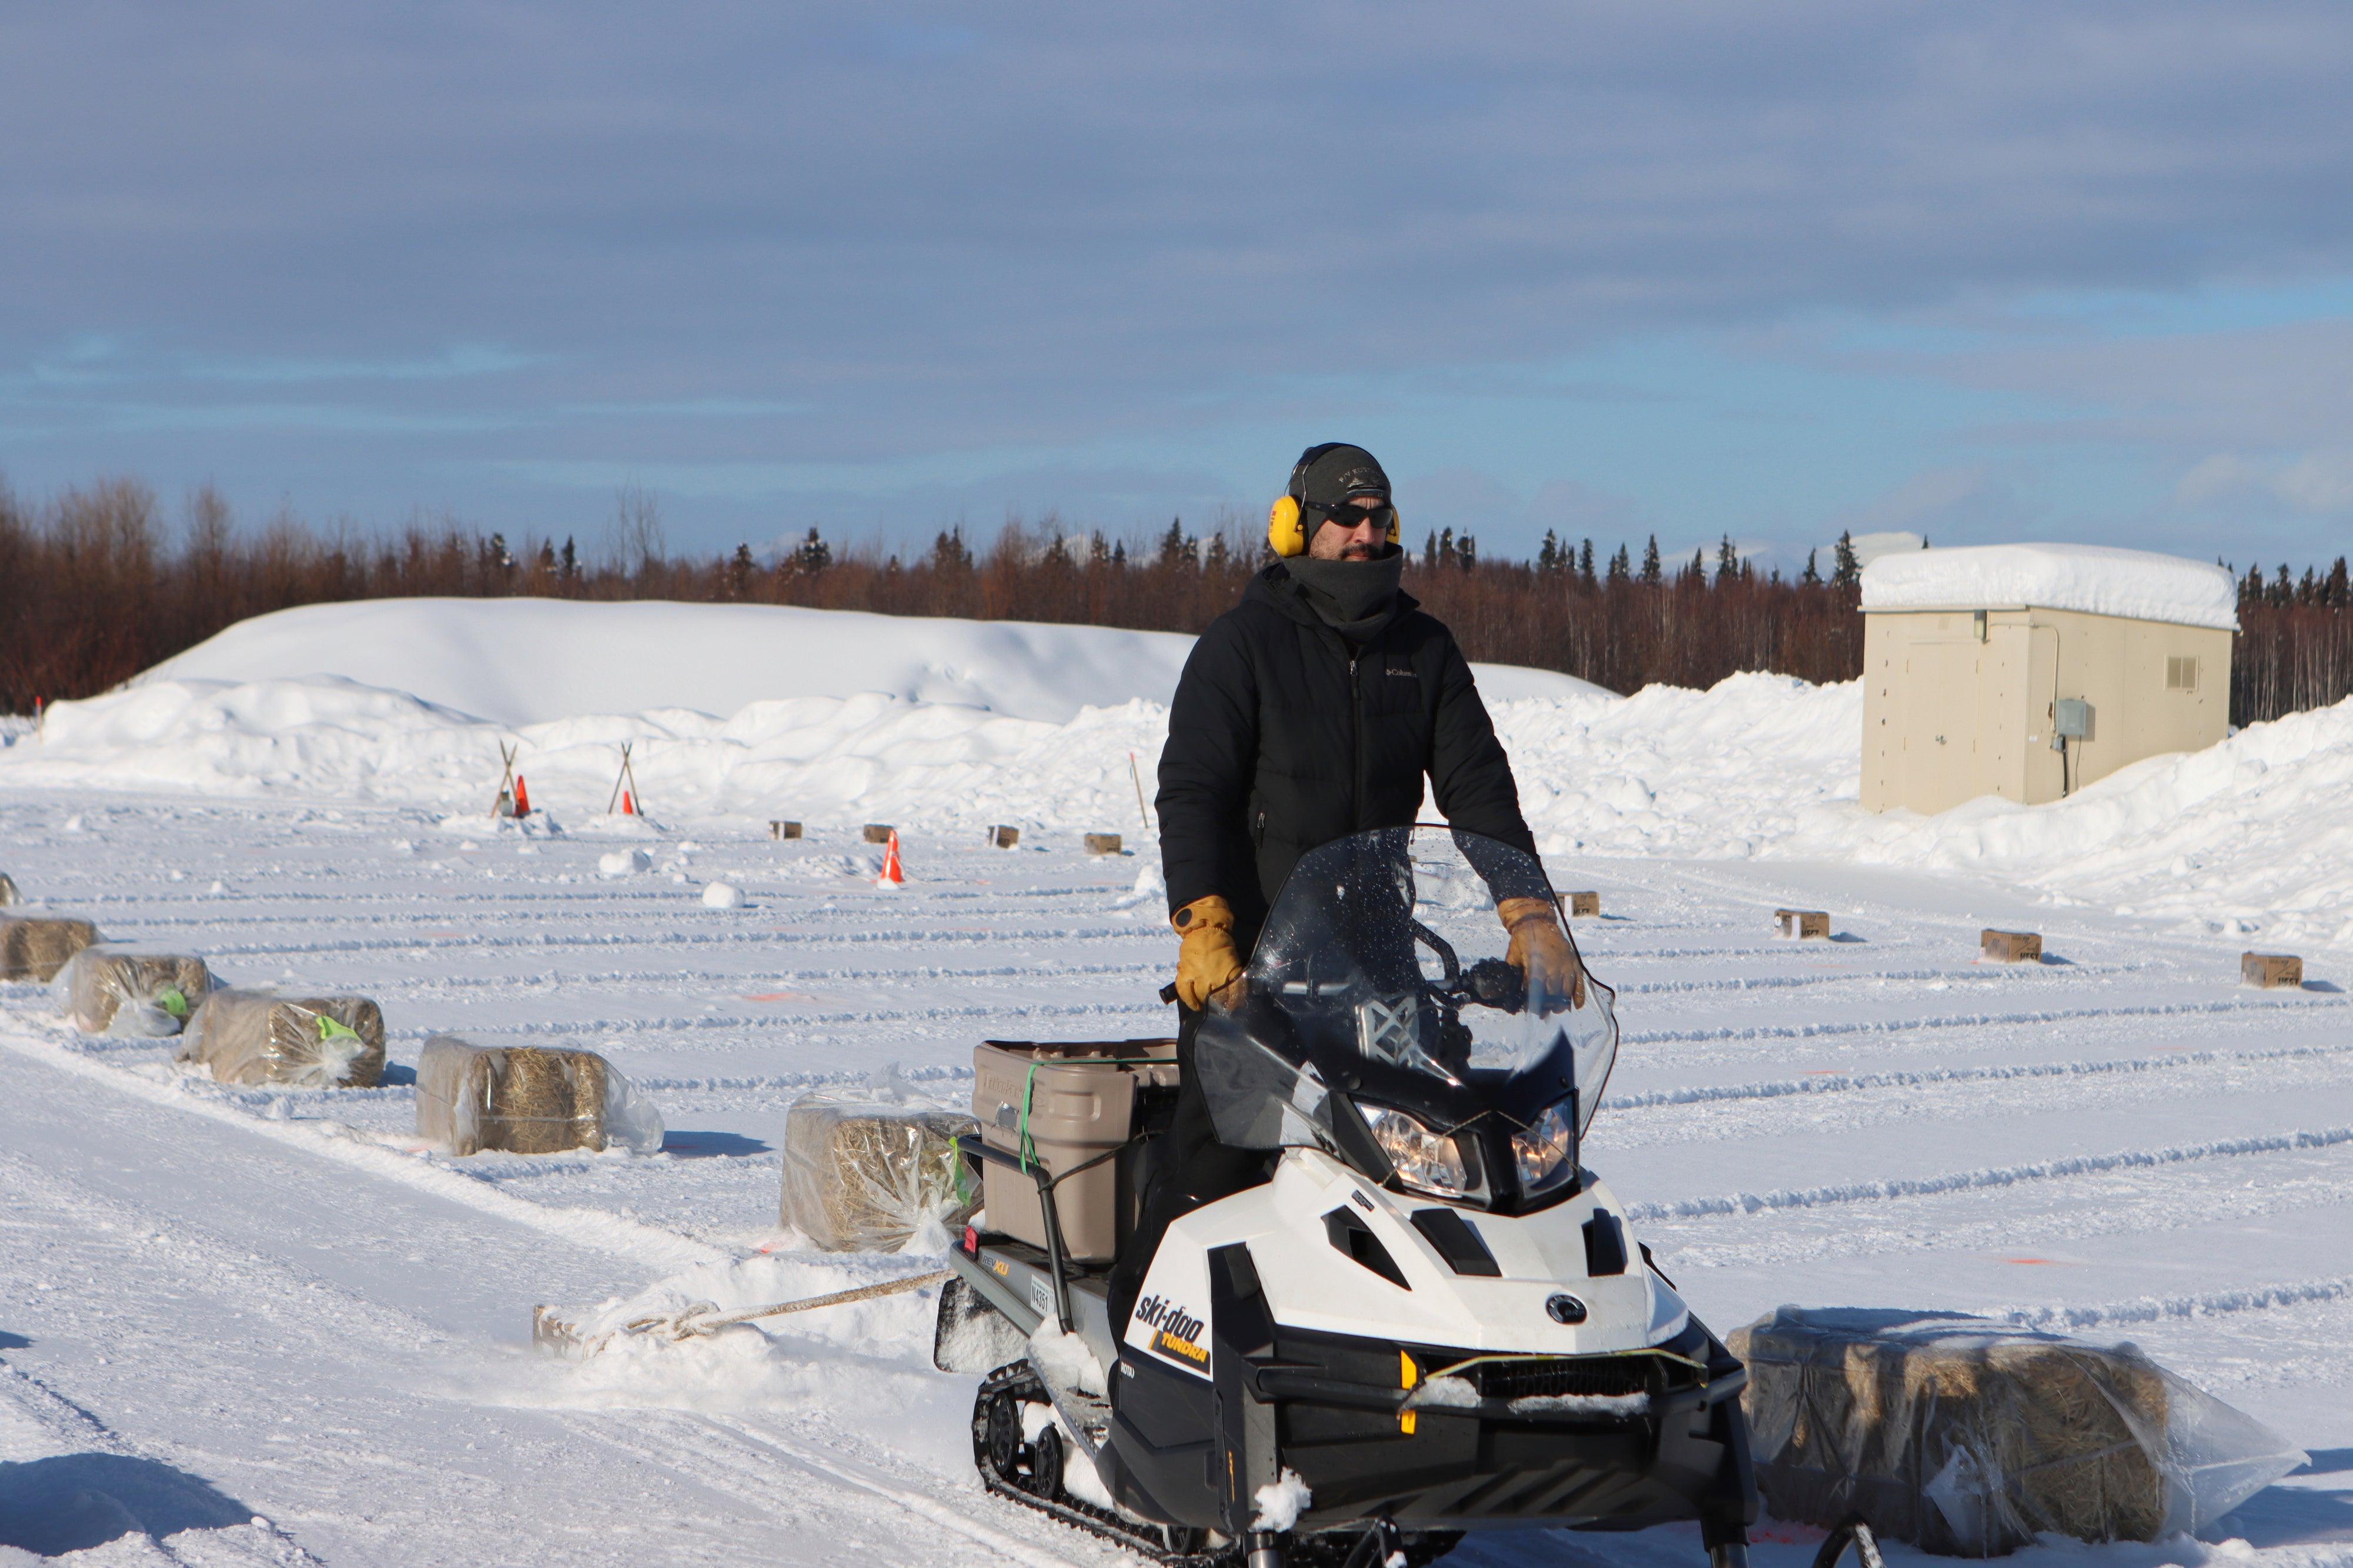
[[[1179,1038],[974,1052],[934,1363],[981,1481],[1162,1568],[1678,1519],[1746,1568],[1746,1370],[1581,1161],[1609,991],[1388,478],[1311,447],[1268,542],[1160,758]]]

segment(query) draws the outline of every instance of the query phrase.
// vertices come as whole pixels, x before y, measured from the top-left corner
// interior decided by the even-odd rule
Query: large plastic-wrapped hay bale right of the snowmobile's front
[[[1765,1509],[1824,1528],[1861,1514],[1927,1552],[2000,1556],[2042,1530],[2195,1533],[2304,1462],[2129,1344],[1800,1307],[1729,1344],[1748,1363],[1741,1406]]]

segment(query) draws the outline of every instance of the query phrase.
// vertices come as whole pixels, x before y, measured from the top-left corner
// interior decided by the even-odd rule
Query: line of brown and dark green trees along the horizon
[[[176,537],[174,537],[176,534]],[[1054,516],[1007,520],[986,544],[962,525],[929,549],[835,546],[805,527],[762,560],[751,542],[692,558],[668,551],[659,506],[624,492],[602,539],[482,534],[419,518],[391,534],[306,527],[280,513],[240,530],[216,492],[186,497],[176,530],[134,480],[101,480],[28,506],[0,490],[0,711],[35,697],[87,697],[212,633],[292,605],[402,596],[704,600],[1080,622],[1200,631],[1264,563],[1254,518],[1181,518],[1139,539],[1068,530]],[[1828,570],[1824,570],[1828,565]],[[1558,669],[1617,692],[1706,687],[1737,671],[1805,680],[1861,673],[1861,570],[1840,534],[1784,579],[1758,572],[1729,534],[1666,567],[1659,539],[1609,553],[1546,532],[1534,560],[1485,556],[1468,532],[1433,530],[1409,551],[1405,586],[1475,662]],[[2346,563],[2240,582],[2235,723],[2337,702],[2353,690]]]

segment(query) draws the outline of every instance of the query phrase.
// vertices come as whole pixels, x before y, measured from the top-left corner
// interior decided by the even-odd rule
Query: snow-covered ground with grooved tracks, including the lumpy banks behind
[[[934,652],[904,643],[911,666]],[[231,982],[372,994],[395,1069],[224,1088],[0,984],[0,1542],[96,1563],[1129,1561],[979,1493],[972,1380],[929,1370],[927,1293],[586,1366],[522,1347],[536,1302],[734,1307],[920,1271],[779,1229],[795,1095],[896,1064],[953,1099],[974,1041],[1169,1024],[1127,768],[1148,789],[1158,702],[802,687],[751,716],[668,699],[511,727],[464,692],[308,678],[348,673],[332,662],[254,673],[12,730],[0,871]],[[2245,1544],[2024,1561],[2353,1563],[2353,711],[1922,822],[1854,808],[1852,687],[1497,709],[1555,881],[1602,895],[1579,939],[1626,1048],[1588,1163],[1711,1323],[1873,1304],[2129,1337],[2313,1467],[2217,1537]],[[621,737],[659,829],[598,815]],[[499,739],[567,831],[475,817]],[[769,817],[812,836],[769,841]],[[901,826],[908,888],[871,885],[871,819]],[[1024,845],[984,848],[988,822]],[[1087,829],[1141,855],[1087,857]],[[631,833],[652,869],[600,876]],[[744,904],[706,906],[711,881]],[[1777,904],[1831,909],[1835,939],[1772,939]],[[2049,961],[1977,963],[1984,925],[2040,930]],[[2247,946],[2304,951],[2306,989],[2238,986]],[[419,1151],[402,1069],[440,1029],[605,1050],[661,1104],[666,1151]],[[1814,1540],[1774,1526],[1758,1559],[1802,1568]],[[1701,1561],[1689,1530],[1457,1559]]]

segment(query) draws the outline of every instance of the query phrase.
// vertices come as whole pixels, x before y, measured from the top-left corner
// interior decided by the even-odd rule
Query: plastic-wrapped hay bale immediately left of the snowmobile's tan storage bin
[[[904,1090],[802,1095],[784,1114],[784,1222],[826,1253],[896,1253],[979,1208],[955,1154],[965,1111]]]

